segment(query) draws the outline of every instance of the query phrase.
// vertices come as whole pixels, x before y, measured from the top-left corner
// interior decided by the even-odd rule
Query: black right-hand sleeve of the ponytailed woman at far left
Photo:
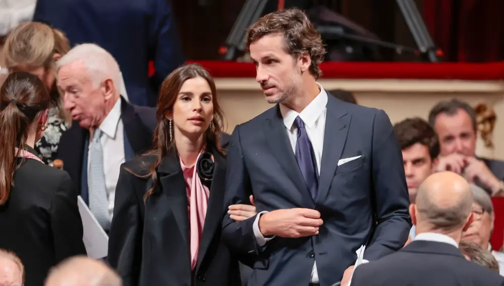
[[[56,261],[86,255],[77,193],[67,172],[61,178],[49,209]]]

